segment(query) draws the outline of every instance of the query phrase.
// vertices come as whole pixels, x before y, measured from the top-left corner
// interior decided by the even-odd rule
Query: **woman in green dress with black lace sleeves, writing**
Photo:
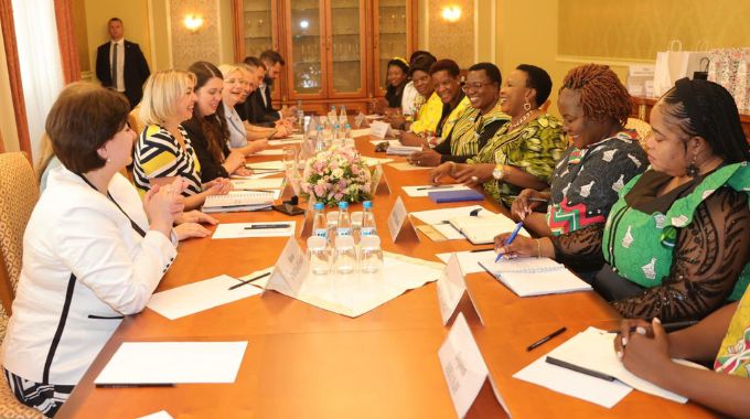
[[[677,80],[651,111],[651,169],[633,178],[607,224],[536,240],[507,234],[512,256],[594,269],[594,289],[624,316],[703,319],[750,281],[750,151],[721,86]]]

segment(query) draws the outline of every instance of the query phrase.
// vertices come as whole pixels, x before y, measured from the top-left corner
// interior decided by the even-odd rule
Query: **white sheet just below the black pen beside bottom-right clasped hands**
[[[610,343],[611,345],[611,343]],[[633,389],[620,382],[608,382],[549,364],[546,355],[513,375],[553,391],[611,409]]]

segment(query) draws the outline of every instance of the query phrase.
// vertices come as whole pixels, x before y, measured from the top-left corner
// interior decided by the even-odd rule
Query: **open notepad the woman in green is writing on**
[[[549,258],[500,259],[489,253],[479,264],[518,297],[590,291],[591,286]]]

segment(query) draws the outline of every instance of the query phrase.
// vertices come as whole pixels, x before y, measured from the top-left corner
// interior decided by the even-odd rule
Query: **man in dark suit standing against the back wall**
[[[109,20],[109,42],[96,50],[96,77],[101,86],[111,87],[124,94],[136,107],[143,96],[143,83],[151,72],[137,43],[126,41],[122,21]]]

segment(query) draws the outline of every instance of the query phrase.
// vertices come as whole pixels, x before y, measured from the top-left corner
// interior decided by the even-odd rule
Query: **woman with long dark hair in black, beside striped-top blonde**
[[[201,182],[226,179],[231,174],[249,175],[250,171],[245,169],[245,153],[240,150],[229,151],[227,146],[229,129],[222,107],[222,72],[204,61],[194,63],[188,71],[195,74],[197,100],[193,117],[183,127],[201,163]]]

